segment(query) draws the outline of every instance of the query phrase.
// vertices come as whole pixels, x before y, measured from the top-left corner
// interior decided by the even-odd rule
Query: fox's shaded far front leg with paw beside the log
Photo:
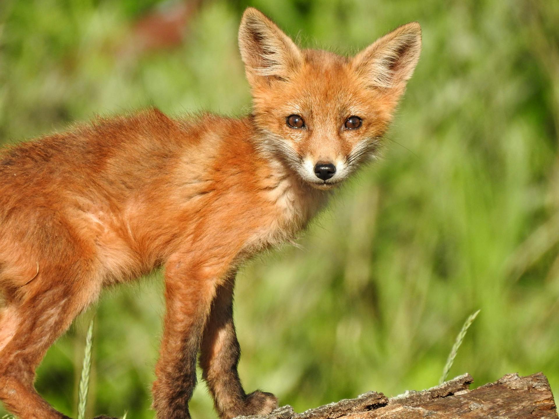
[[[272,393],[255,391],[247,395],[241,385],[237,372],[240,346],[233,323],[234,286],[233,273],[217,288],[200,350],[202,377],[221,419],[267,415],[278,406]]]

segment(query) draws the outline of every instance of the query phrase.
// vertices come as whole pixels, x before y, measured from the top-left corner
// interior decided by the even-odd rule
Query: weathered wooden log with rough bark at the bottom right
[[[267,416],[250,419],[416,419],[416,418],[544,418],[557,419],[557,407],[542,373],[507,374],[495,383],[470,391],[473,379],[464,374],[421,392],[386,398],[369,392],[354,399],[326,404],[303,413],[283,406]]]

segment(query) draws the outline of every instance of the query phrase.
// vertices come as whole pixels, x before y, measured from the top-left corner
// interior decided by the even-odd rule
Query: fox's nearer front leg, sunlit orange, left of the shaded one
[[[155,368],[153,408],[158,419],[189,419],[188,401],[196,386],[196,354],[211,302],[227,264],[186,263],[173,256],[165,272],[164,319],[160,358]]]

